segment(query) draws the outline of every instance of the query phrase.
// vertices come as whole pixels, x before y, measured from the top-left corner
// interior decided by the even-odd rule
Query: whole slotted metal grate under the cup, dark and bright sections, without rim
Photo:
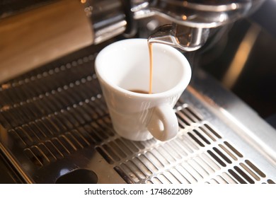
[[[274,183],[190,100],[176,104],[180,132],[171,141],[117,136],[93,71],[95,57],[47,65],[1,85],[0,123],[9,139],[3,144],[32,182],[45,182],[37,175],[47,168],[83,168],[76,164],[88,149],[127,183]]]

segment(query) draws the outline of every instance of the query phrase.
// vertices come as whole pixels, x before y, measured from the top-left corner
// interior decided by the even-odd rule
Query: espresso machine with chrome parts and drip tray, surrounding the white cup
[[[266,4],[0,3],[1,182],[275,184],[275,128],[231,91],[263,30],[243,19]],[[130,141],[114,132],[94,61],[103,47],[133,37],[176,47],[192,66],[174,107],[179,132],[169,141]]]

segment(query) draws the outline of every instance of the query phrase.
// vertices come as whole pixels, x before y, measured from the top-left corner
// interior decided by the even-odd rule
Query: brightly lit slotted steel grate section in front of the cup
[[[208,124],[165,143],[116,139],[97,149],[129,183],[255,183],[266,177]]]

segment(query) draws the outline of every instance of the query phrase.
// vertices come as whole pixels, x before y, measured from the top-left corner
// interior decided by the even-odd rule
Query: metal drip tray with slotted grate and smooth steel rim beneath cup
[[[24,182],[275,183],[275,129],[202,71],[176,104],[176,138],[115,134],[91,51],[1,84],[0,148]]]

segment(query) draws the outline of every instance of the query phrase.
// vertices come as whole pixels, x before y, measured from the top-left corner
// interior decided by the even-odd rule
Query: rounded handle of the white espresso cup
[[[176,136],[178,119],[173,108],[168,104],[154,107],[147,129],[152,136],[160,141],[166,141]]]

